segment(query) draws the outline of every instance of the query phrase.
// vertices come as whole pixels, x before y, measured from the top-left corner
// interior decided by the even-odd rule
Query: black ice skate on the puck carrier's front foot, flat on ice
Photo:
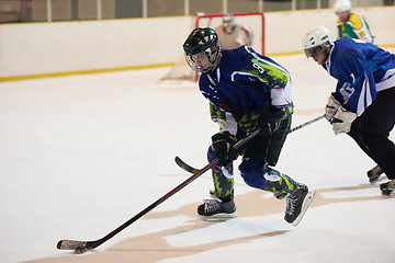
[[[218,198],[205,199],[204,204],[198,207],[198,215],[205,220],[234,218],[236,217],[236,205],[233,199],[229,202]]]

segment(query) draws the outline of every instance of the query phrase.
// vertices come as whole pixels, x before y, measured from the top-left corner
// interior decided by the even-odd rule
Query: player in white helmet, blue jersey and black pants
[[[307,32],[303,48],[307,58],[338,80],[325,117],[335,134],[347,133],[377,163],[368,175],[384,171],[391,181],[381,190],[391,195],[395,188],[395,146],[388,138],[395,124],[395,55],[359,39],[332,42],[324,26]]]

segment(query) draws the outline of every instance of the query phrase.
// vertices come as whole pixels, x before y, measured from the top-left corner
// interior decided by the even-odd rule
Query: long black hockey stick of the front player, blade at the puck
[[[247,141],[249,141],[252,137],[255,137],[256,135],[258,135],[260,133],[259,129],[257,129],[256,132],[253,132],[252,134],[250,134],[249,136],[247,136],[246,138],[239,140],[234,148],[237,150],[239,149],[241,146],[244,146]],[[208,171],[212,167],[214,167],[216,163],[218,162],[218,159],[213,160],[212,162],[210,162],[207,165],[205,165],[204,168],[202,168],[201,170],[199,170],[198,172],[195,172],[192,176],[190,176],[189,179],[187,179],[184,182],[182,182],[181,184],[179,184],[178,186],[176,186],[173,190],[171,190],[169,193],[165,194],[162,197],[160,197],[159,199],[157,199],[156,202],[154,202],[151,205],[149,205],[148,207],[146,207],[144,210],[142,210],[140,213],[138,213],[137,215],[135,215],[134,217],[132,217],[129,220],[127,220],[126,222],[124,222],[122,226],[120,226],[119,228],[116,228],[115,230],[113,230],[112,232],[108,233],[106,236],[104,236],[101,239],[98,240],[93,240],[93,241],[77,241],[77,240],[60,240],[57,243],[57,248],[59,250],[75,250],[76,253],[84,253],[88,250],[92,250],[95,249],[97,247],[101,245],[102,243],[104,243],[105,241],[108,241],[109,239],[113,238],[115,235],[117,235],[119,232],[121,232],[123,229],[125,229],[126,227],[131,226],[134,221],[136,221],[137,219],[139,219],[140,217],[143,217],[144,215],[146,215],[148,211],[150,211],[151,209],[154,209],[155,207],[157,207],[158,205],[160,205],[161,203],[163,203],[166,199],[170,198],[173,194],[176,194],[177,192],[179,192],[180,190],[182,190],[183,187],[185,187],[188,184],[190,184],[192,181],[194,181],[195,179],[198,179],[200,175],[202,175],[204,172]]]

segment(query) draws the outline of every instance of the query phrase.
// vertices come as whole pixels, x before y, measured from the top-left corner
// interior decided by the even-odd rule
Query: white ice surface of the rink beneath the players
[[[293,125],[323,114],[336,81],[302,55],[274,59],[293,79]],[[195,83],[160,82],[168,70],[0,83],[0,262],[84,256],[58,251],[57,241],[101,238],[176,187],[188,176],[176,156],[206,164],[217,132],[207,102]],[[278,164],[317,190],[298,227],[283,220],[284,202],[248,187],[238,172],[239,216],[200,224],[207,172],[97,251],[163,231],[168,247],[198,249],[161,263],[393,262],[395,199],[368,183],[373,167],[319,121],[289,136]],[[275,211],[266,213],[268,202],[278,202]]]

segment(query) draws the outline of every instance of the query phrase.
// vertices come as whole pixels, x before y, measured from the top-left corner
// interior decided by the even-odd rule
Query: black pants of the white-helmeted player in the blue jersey
[[[379,92],[348,133],[388,179],[395,179],[395,145],[388,139],[394,125],[395,87]]]

